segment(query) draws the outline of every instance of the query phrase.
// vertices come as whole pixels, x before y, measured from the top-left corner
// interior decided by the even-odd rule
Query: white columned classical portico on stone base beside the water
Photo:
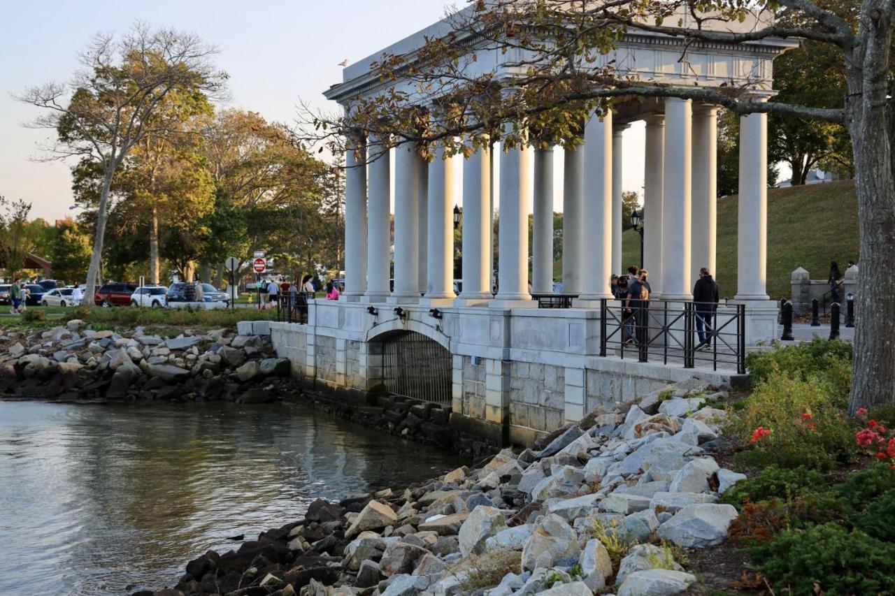
[[[750,30],[756,23],[731,26]],[[410,55],[425,38],[448,29],[446,22],[436,23],[346,67],[343,81],[326,96],[351,109],[354,98],[392,88],[412,92],[409,81],[382,81],[374,64],[383,53]],[[620,74],[657,84],[740,87],[763,100],[771,95],[771,62],[788,47],[775,39],[737,47],[694,43],[684,64],[678,40],[632,33],[596,65],[611,60]],[[489,63],[486,57],[474,63],[477,68]],[[494,58],[490,55],[490,64]],[[509,76],[500,67],[497,75]],[[421,387],[430,387],[427,369],[418,366],[425,353],[400,353],[402,338],[430,342],[449,359],[450,370],[439,379],[450,378],[449,387],[442,388],[451,423],[502,442],[530,443],[597,405],[669,381],[736,378],[743,372],[746,345],[776,335],[776,305],[765,289],[767,117],[753,114],[740,121],[737,288],[723,307],[735,323],[726,332],[736,341],[727,347],[740,360],[724,369],[717,359],[694,360],[691,302],[699,269],[715,268],[718,109],[680,98],[619,100],[610,111],[592,114],[582,142],[563,148],[561,160],[554,158],[554,145],[534,137],[528,147],[508,150],[480,143],[468,157],[447,157],[439,149],[427,161],[412,145],[383,149],[382,139],[353,135],[346,155],[345,292],[340,302],[311,301],[307,325],[273,324],[277,351],[292,360],[297,375],[315,384],[369,395],[396,391],[389,379],[417,369]],[[632,156],[624,152],[624,131],[638,121],[645,123],[644,154]],[[646,319],[661,319],[652,337],[661,341],[640,353],[625,352],[618,341],[624,336],[622,321],[611,312],[618,307],[609,306],[617,303],[609,276],[622,274],[629,264],[621,260],[621,180],[632,159],[644,166],[640,265],[650,271],[652,300],[658,303]],[[554,181],[560,167],[564,225],[557,240]],[[459,247],[455,207],[462,209]],[[558,278],[556,242],[562,243]],[[457,249],[462,253],[458,295]],[[538,308],[555,282],[562,284],[564,300],[546,302],[570,308]],[[718,319],[720,314],[715,328],[723,327]],[[609,345],[609,336],[616,337],[616,345]],[[661,359],[648,357],[653,348]],[[396,362],[405,362],[404,368]]]

